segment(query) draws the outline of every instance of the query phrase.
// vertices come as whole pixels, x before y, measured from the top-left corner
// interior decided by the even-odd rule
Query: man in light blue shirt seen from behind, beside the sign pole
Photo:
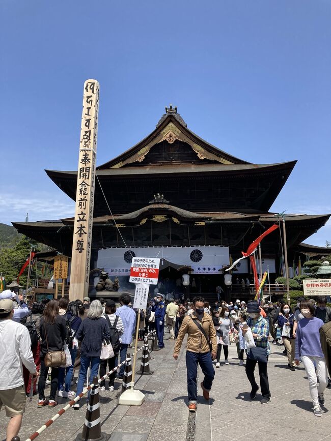
[[[128,346],[132,342],[132,334],[135,327],[135,312],[132,308],[129,307],[131,299],[128,294],[122,294],[119,298],[119,301],[122,306],[117,308],[116,315],[121,317],[124,326],[124,333],[122,335],[122,343],[120,349],[120,363],[122,363],[126,359]],[[120,367],[120,372],[118,374],[119,379],[123,379],[124,368],[124,365]]]

